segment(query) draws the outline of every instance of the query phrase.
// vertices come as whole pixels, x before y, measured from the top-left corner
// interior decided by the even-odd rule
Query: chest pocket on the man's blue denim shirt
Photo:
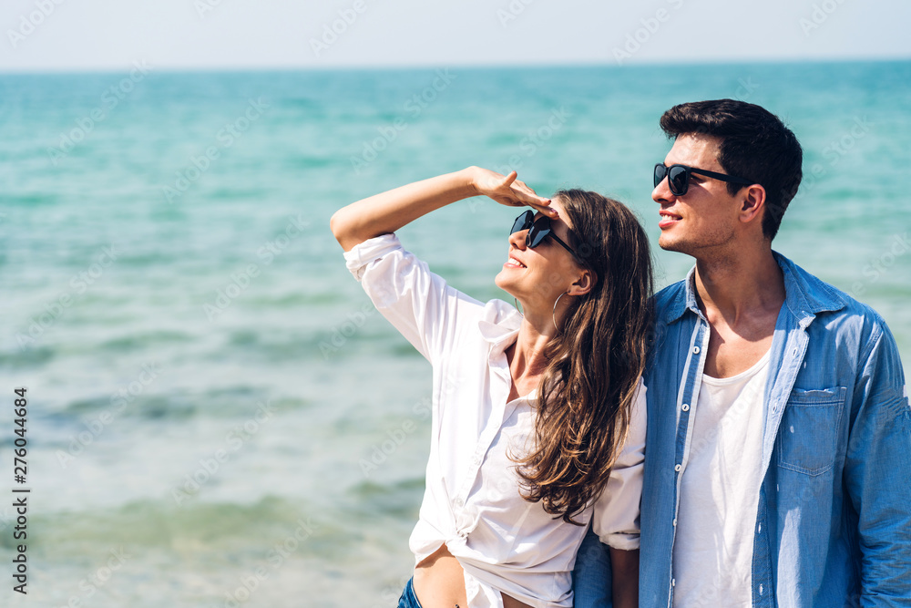
[[[846,394],[845,386],[791,391],[775,439],[779,467],[810,476],[832,469]]]

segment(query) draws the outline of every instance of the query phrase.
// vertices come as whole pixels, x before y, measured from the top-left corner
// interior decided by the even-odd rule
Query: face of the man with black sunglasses
[[[708,135],[681,135],[664,164],[726,173],[718,162],[720,144],[721,139]],[[665,178],[655,186],[651,198],[661,205],[661,249],[699,257],[701,250],[731,244],[735,238],[739,205],[721,180],[691,173],[689,190],[675,196]]]

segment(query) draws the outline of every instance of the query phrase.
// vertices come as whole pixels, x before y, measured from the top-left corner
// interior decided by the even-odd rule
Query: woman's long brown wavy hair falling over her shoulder
[[[573,518],[598,498],[630,428],[654,286],[649,240],[632,211],[597,192],[562,190],[553,198],[572,226],[578,263],[597,279],[588,294],[570,299],[545,347],[534,445],[512,459],[523,498],[581,525]]]

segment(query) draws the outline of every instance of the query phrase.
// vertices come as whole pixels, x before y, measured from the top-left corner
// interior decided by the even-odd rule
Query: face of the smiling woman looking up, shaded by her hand
[[[569,242],[569,226],[562,203],[554,199],[551,206],[558,211],[559,217],[551,218],[550,229],[563,242]],[[543,217],[541,213],[535,214],[536,221],[540,217]],[[568,291],[582,270],[572,254],[549,236],[530,249],[525,244],[527,234],[528,231],[523,230],[509,235],[507,262],[494,282],[521,302],[526,313],[540,310],[550,314],[559,294]]]

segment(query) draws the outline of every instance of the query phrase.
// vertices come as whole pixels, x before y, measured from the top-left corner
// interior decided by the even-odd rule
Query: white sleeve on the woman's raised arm
[[[376,310],[431,363],[452,344],[461,304],[481,305],[431,273],[394,233],[367,239],[344,258]]]

